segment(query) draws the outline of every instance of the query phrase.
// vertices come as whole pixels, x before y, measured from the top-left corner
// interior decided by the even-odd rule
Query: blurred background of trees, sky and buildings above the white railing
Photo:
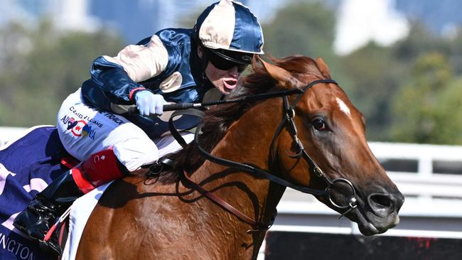
[[[161,28],[192,28],[205,0],[5,0],[0,126],[55,124],[60,103]],[[323,57],[367,119],[371,141],[462,144],[462,2],[244,0],[266,53]]]

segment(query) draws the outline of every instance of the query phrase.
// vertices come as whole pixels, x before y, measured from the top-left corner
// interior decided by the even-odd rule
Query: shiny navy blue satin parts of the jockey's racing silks
[[[129,94],[139,87],[146,87],[154,94],[162,94],[167,102],[202,101],[205,92],[212,86],[204,84],[200,66],[191,66],[191,64],[198,63],[194,60],[197,59],[196,53],[190,56],[192,31],[191,29],[169,28],[156,33],[168,52],[168,64],[159,75],[143,82],[131,80],[121,65],[109,62],[103,57],[97,58],[92,65],[92,78],[82,85],[84,101],[97,109],[112,112],[111,103],[134,104],[134,100],[129,99]],[[150,38],[141,40],[138,45],[147,45]],[[159,89],[159,85],[173,72],[181,73],[181,86],[178,90],[164,93]],[[126,117],[143,129],[151,139],[168,131],[167,122],[161,119],[139,115],[127,115]],[[197,124],[197,118],[188,116],[181,117],[175,123],[178,129],[191,129]]]

